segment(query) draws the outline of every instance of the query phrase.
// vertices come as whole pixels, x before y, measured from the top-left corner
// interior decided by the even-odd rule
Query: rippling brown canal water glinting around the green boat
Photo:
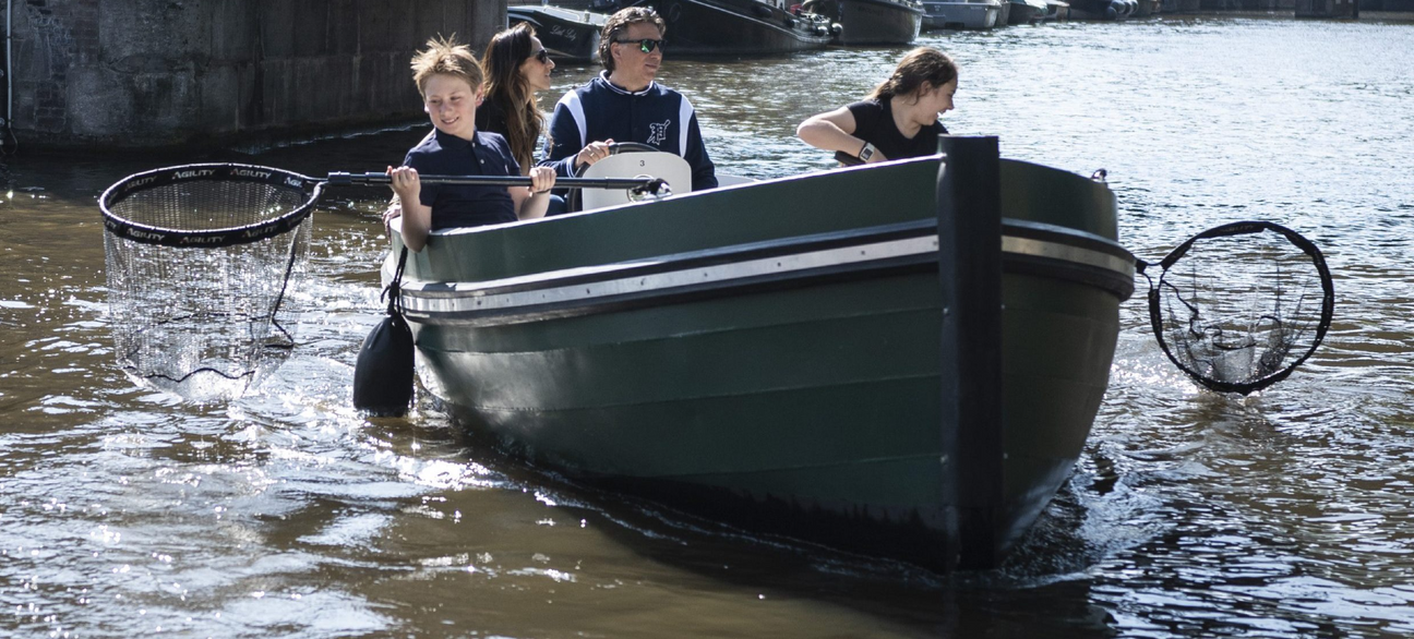
[[[373,188],[315,213],[300,348],[263,392],[189,406],[113,366],[96,198],[181,161],[380,170],[420,130],[202,158],[10,158],[0,204],[0,628],[127,636],[1342,636],[1414,633],[1406,311],[1414,27],[1243,18],[929,35],[960,134],[1107,168],[1157,259],[1270,219],[1336,276],[1326,346],[1247,399],[1199,392],[1126,304],[1076,474],[1005,568],[940,577],[564,485],[424,404],[349,409],[378,321]],[[902,49],[669,61],[714,160],[827,168],[805,116]],[[557,88],[587,71],[567,69]],[[786,215],[789,212],[783,212]]]

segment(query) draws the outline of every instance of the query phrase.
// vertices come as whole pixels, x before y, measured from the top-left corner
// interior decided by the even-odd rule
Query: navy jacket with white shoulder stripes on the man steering
[[[550,116],[551,146],[542,165],[557,175],[574,175],[574,157],[591,141],[638,141],[676,153],[693,167],[693,191],[717,187],[717,170],[703,147],[693,103],[658,82],[629,92],[614,86],[602,72],[570,90]]]

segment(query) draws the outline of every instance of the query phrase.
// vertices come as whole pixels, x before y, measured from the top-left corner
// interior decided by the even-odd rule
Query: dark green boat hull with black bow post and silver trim
[[[577,481],[995,565],[1080,455],[1134,257],[1104,184],[943,150],[434,233],[402,279],[419,377]]]

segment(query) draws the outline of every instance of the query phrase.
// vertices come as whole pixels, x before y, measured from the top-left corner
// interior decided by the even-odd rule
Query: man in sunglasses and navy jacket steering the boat
[[[597,141],[636,141],[676,153],[693,167],[693,191],[717,187],[717,170],[703,147],[697,115],[682,93],[658,82],[667,24],[652,8],[629,7],[609,16],[600,31],[604,72],[571,89],[554,105],[542,165],[573,177],[581,164],[602,160]],[[583,153],[598,157],[583,157]]]

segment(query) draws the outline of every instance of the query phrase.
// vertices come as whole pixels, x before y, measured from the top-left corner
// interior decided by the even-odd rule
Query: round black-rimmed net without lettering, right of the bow
[[[1270,222],[1237,222],[1188,240],[1150,287],[1150,321],[1178,368],[1203,386],[1251,393],[1285,379],[1331,327],[1325,257]]]

